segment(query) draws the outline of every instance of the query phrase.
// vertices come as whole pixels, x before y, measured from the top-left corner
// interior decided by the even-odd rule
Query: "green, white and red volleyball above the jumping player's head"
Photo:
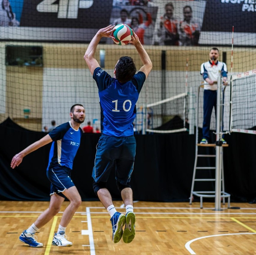
[[[113,39],[115,44],[126,45],[132,40],[132,29],[126,24],[118,24],[114,27],[115,31],[112,33],[115,39]]]

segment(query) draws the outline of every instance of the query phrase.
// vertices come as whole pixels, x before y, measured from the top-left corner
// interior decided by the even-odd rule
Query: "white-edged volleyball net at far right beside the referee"
[[[230,131],[256,134],[256,69],[232,76]]]

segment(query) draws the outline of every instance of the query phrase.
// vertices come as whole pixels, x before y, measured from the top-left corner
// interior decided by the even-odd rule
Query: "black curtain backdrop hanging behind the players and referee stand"
[[[45,133],[26,130],[11,119],[0,124],[0,200],[48,201],[50,182],[46,177],[50,144],[24,157],[20,166],[10,167],[12,157]],[[72,180],[83,201],[98,200],[92,189],[92,169],[100,134],[83,134],[75,157]],[[134,200],[188,202],[194,159],[195,135],[177,134],[135,135],[137,141],[131,180]],[[212,134],[212,140],[214,135]],[[225,136],[229,147],[224,148],[225,191],[233,202],[251,202],[256,197],[256,135],[232,133]],[[200,147],[199,153],[215,153],[214,148]],[[202,165],[215,165],[215,159],[204,159]],[[202,176],[212,175],[204,172]],[[199,184],[198,190],[214,189],[214,183]],[[114,171],[108,181],[114,200],[120,200]],[[197,198],[195,198],[197,199]]]

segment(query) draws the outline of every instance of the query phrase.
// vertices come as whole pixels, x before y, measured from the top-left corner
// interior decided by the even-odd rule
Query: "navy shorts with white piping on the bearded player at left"
[[[65,166],[47,169],[47,177],[51,182],[50,195],[54,193],[65,197],[62,192],[70,187],[75,186],[71,180],[71,169]]]

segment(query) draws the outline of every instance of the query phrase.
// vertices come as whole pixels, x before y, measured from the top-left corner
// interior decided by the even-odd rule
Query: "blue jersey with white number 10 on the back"
[[[118,137],[133,135],[136,102],[146,75],[138,72],[130,81],[121,83],[97,67],[93,79],[99,89],[102,133]]]

